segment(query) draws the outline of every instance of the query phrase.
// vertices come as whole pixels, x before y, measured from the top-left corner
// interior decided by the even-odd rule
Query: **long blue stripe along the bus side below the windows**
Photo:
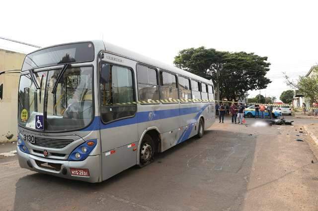
[[[99,129],[107,129],[107,128],[113,128],[113,127],[120,127],[120,126],[125,126],[125,125],[130,125],[130,124],[137,124],[137,123],[142,123],[142,122],[147,122],[147,121],[154,121],[158,119],[165,119],[165,118],[171,118],[175,116],[180,116],[180,115],[186,115],[186,114],[191,114],[191,113],[196,113],[196,117],[194,119],[191,119],[190,123],[195,122],[197,118],[201,115],[203,110],[207,107],[208,105],[202,106],[202,107],[185,107],[185,108],[175,108],[175,109],[166,109],[166,110],[153,110],[153,111],[141,111],[138,112],[134,117],[132,118],[126,118],[122,120],[117,120],[108,124],[103,124],[101,123],[100,117],[95,116],[92,123],[84,128],[82,131],[92,131],[92,130],[99,130]],[[150,114],[152,113],[152,114]],[[150,115],[152,115],[150,117]],[[101,124],[100,124],[101,123]],[[189,123],[189,124],[190,124]]]

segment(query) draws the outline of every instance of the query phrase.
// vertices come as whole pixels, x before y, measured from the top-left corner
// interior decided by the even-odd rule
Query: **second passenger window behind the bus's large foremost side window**
[[[161,100],[178,99],[178,90],[175,75],[160,71],[160,86]]]

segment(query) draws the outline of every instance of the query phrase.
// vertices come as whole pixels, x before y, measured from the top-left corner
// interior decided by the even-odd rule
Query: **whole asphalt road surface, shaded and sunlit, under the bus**
[[[254,121],[216,121],[203,138],[96,184],[1,158],[0,210],[318,210],[318,150],[299,133],[315,120],[297,119],[293,127],[252,127]]]

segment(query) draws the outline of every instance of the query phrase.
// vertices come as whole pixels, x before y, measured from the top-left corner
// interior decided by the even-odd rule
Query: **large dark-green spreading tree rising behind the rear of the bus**
[[[184,70],[212,79],[220,86],[220,99],[246,97],[248,90],[264,89],[271,82],[265,77],[270,63],[267,57],[245,52],[221,52],[215,49],[184,49],[173,63]]]

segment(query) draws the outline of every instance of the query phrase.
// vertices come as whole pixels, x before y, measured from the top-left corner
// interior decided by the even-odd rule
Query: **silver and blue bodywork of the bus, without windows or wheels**
[[[214,123],[214,94],[210,95],[213,99],[209,98],[205,102],[182,102],[175,101],[176,99],[170,102],[140,101],[136,68],[141,64],[156,69],[158,73],[161,70],[166,71],[176,77],[182,76],[213,87],[211,80],[103,41],[89,42],[94,47],[94,59],[71,65],[72,68],[86,65],[93,69],[93,119],[84,128],[57,132],[30,129],[18,124],[17,154],[22,168],[68,179],[101,182],[131,166],[140,164],[141,143],[145,134],[156,137],[154,140],[156,152],[163,152],[197,135],[200,119],[204,122],[204,129]],[[132,116],[107,123],[102,121],[99,84],[101,63],[132,70],[135,100],[126,102],[137,107]],[[63,68],[63,65],[45,66],[35,68],[33,71],[37,73],[56,68]],[[21,75],[23,74],[27,74],[27,71],[22,69]],[[18,113],[18,118],[22,118],[20,115]],[[87,158],[79,161],[70,159],[72,152],[89,140],[92,140],[95,146]],[[73,171],[77,169],[88,169],[89,174],[75,175]]]

